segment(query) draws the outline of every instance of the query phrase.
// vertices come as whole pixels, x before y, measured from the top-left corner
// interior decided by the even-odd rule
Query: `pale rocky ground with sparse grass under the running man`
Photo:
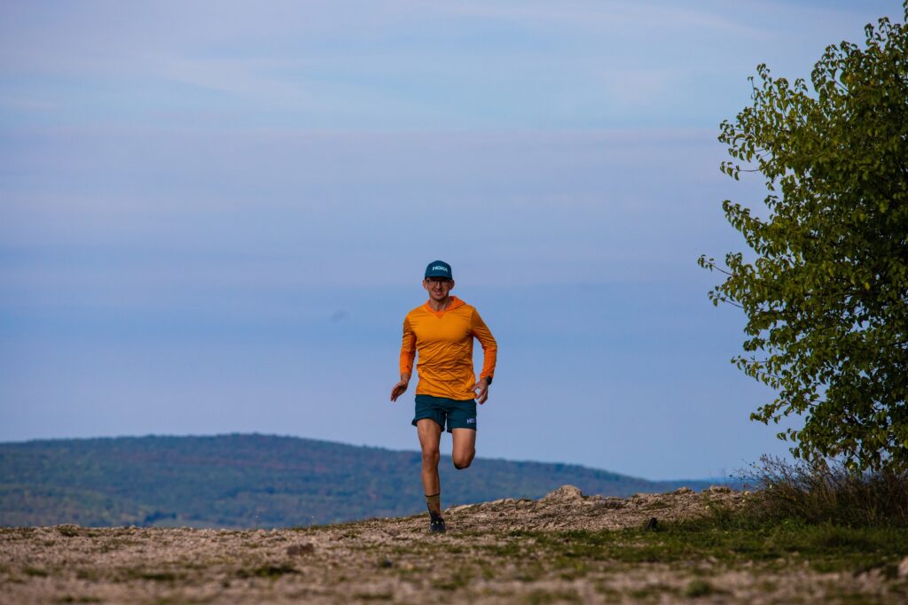
[[[666,557],[676,545],[641,541],[659,535],[641,528],[747,497],[717,486],[614,498],[566,485],[536,501],[450,508],[443,535],[429,534],[427,515],[272,531],[3,528],[0,603],[905,602],[908,560],[894,572],[820,572]]]

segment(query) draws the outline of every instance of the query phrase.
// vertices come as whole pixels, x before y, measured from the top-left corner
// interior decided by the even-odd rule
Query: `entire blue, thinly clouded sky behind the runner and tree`
[[[0,3],[0,441],[417,449],[429,261],[498,339],[479,456],[648,479],[784,454],[697,267],[718,125],[895,1]],[[477,346],[477,365],[481,352]],[[795,421],[795,424],[796,421]],[[447,448],[447,449],[446,449]],[[449,440],[442,451],[449,452]]]

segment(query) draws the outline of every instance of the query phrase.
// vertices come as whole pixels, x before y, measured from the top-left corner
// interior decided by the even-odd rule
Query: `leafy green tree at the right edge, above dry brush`
[[[903,5],[908,21],[908,0]],[[908,27],[880,19],[866,44],[826,48],[811,75],[750,78],[753,103],[721,125],[732,161],[765,178],[765,210],[725,200],[752,249],[725,256],[710,291],[747,317],[732,362],[775,390],[751,414],[802,428],[796,457],[908,470]],[[759,216],[762,214],[763,216]]]

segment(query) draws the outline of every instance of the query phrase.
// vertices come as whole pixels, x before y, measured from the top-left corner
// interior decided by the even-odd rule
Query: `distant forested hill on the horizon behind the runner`
[[[262,434],[0,444],[0,525],[286,527],[424,510],[420,454]],[[445,507],[539,498],[565,483],[627,496],[649,482],[573,464],[441,461]]]

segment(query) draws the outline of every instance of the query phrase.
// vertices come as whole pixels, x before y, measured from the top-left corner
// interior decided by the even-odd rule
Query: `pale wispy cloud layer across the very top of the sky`
[[[0,112],[11,123],[353,131],[713,124],[756,63],[805,74],[840,32],[861,35],[878,16],[864,4],[871,17],[707,1],[3,10]],[[53,118],[36,111],[51,102]]]

